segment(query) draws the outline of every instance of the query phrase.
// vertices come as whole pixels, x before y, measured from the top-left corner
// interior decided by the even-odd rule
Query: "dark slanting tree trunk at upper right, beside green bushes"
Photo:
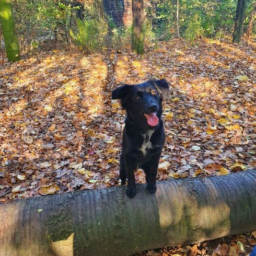
[[[243,21],[245,20],[246,0],[238,0],[233,32],[233,42],[239,43],[242,36]]]

